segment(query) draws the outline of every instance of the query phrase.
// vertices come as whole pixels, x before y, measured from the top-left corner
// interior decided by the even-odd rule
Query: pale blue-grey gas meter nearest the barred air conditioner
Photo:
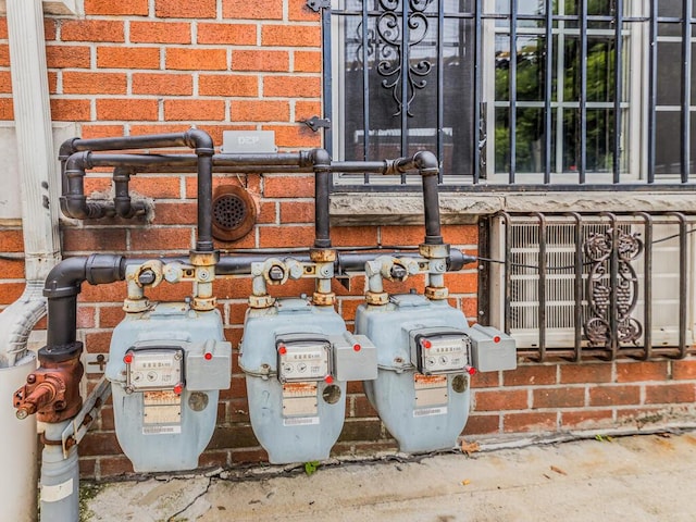
[[[364,382],[365,395],[407,452],[456,446],[469,418],[476,358],[490,371],[515,363],[511,338],[495,331],[501,350],[492,358],[484,348],[493,330],[474,331],[447,301],[414,294],[391,296],[382,306],[361,304],[356,332],[377,349],[378,375]]]

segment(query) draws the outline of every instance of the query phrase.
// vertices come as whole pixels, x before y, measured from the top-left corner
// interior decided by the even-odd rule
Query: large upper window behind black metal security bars
[[[693,189],[696,0],[332,0],[323,16],[336,160],[427,149],[452,189]]]

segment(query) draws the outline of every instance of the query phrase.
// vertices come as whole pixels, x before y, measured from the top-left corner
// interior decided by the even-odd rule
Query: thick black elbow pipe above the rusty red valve
[[[125,277],[122,256],[94,253],[67,258],[48,274],[44,295],[48,298],[47,350],[60,352],[72,346],[77,332],[77,295],[83,282],[92,285],[113,283]]]

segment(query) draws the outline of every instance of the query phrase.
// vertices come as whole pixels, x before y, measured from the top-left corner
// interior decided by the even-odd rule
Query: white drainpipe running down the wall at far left
[[[46,314],[41,295],[60,261],[60,178],[53,152],[40,0],[7,0],[26,289],[0,314],[0,520],[36,520],[36,417],[18,421],[11,398],[36,368],[29,332]],[[50,201],[46,208],[45,201]]]

